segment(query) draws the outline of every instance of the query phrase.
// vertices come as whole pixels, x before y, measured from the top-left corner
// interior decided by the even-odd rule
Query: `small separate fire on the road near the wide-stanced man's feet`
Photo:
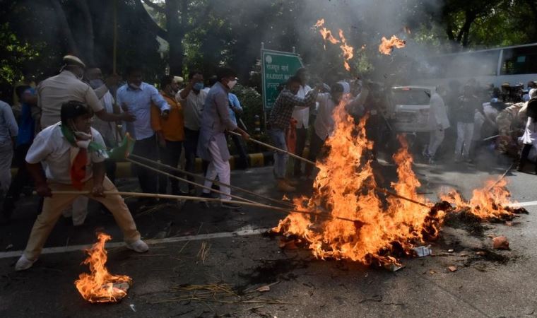
[[[75,285],[88,302],[118,302],[126,296],[126,290],[132,283],[129,276],[112,275],[105,266],[107,261],[105,242],[111,238],[105,233],[98,233],[98,242],[85,251],[88,253],[88,258],[83,264],[90,266],[91,273],[81,273]]]

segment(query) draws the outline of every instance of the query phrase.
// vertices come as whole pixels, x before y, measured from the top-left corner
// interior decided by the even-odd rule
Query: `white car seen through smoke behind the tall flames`
[[[394,86],[389,94],[391,124],[396,132],[418,133],[428,129],[429,107],[435,86]]]

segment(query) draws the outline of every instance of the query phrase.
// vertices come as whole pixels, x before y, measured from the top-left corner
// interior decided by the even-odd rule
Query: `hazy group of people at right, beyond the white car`
[[[449,88],[438,86],[430,98],[430,139],[423,150],[429,163],[435,162],[445,131],[453,127],[455,163],[472,163],[479,148],[488,146],[497,155],[514,158],[521,155],[521,170],[529,155],[521,152],[521,147],[533,142],[529,139],[533,120],[529,110],[536,104],[537,85],[531,81],[527,90],[519,89],[518,94],[506,93],[510,91],[507,88],[507,83],[502,88],[480,88],[473,80],[464,86],[456,81],[449,83]],[[529,152],[531,147],[527,149]],[[530,155],[533,161],[535,157],[533,153]]]

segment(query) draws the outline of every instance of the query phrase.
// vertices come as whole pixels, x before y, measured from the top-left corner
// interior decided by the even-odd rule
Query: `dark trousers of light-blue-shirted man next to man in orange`
[[[137,140],[136,143],[134,143],[134,150],[132,153],[134,153],[134,155],[139,155],[140,157],[156,161],[158,158],[158,147],[155,135],[146,139]],[[155,166],[151,163],[144,164],[152,167]],[[136,164],[133,164],[133,169],[138,176],[138,182],[140,183],[142,192],[157,193],[158,173]]]

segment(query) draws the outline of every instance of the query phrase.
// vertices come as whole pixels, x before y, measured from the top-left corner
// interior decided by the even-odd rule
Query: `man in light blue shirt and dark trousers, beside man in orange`
[[[155,139],[155,131],[151,127],[151,105],[158,107],[160,116],[167,119],[170,114],[170,105],[166,102],[155,86],[142,81],[142,69],[140,66],[129,66],[125,72],[126,84],[117,90],[117,103],[122,108],[136,116],[132,122],[131,137],[136,139],[132,153],[149,160],[158,159],[158,146]],[[151,164],[149,164],[151,165]],[[158,175],[146,167],[134,164],[134,172],[138,176],[138,182],[142,192],[157,193]],[[153,204],[155,199],[143,198],[141,204]]]

